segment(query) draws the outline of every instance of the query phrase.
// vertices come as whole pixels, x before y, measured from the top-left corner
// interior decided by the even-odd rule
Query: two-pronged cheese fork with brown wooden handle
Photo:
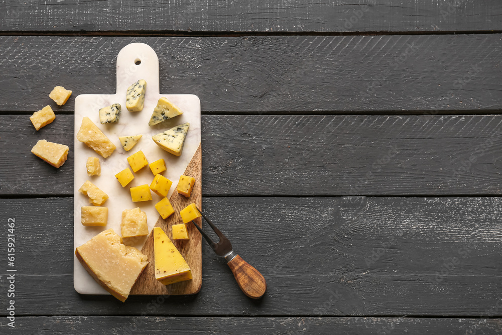
[[[195,207],[197,208],[197,207]],[[206,233],[202,231],[192,220],[192,224],[197,228],[200,234],[204,237],[204,239],[209,243],[209,246],[213,248],[216,255],[224,257],[226,259],[227,265],[233,273],[237,284],[239,285],[242,292],[247,295],[249,298],[259,299],[265,294],[265,290],[267,289],[267,283],[265,282],[265,278],[262,274],[250,266],[246,261],[244,261],[239,255],[237,255],[232,250],[232,244],[226,238],[223,233],[220,232],[216,226],[213,225],[210,219],[206,217],[202,213],[202,211],[197,208],[199,213],[204,217],[209,226],[211,226],[214,233],[219,238],[219,241],[216,243]]]

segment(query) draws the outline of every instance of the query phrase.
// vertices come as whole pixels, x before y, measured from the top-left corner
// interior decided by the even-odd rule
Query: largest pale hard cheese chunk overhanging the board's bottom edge
[[[99,285],[122,302],[148,265],[147,256],[134,247],[124,246],[112,229],[77,247],[75,255]]]

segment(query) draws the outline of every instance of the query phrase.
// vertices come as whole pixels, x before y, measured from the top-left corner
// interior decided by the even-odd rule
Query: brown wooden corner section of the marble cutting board
[[[166,235],[173,241],[178,251],[181,253],[185,261],[187,262],[190,270],[192,271],[192,280],[187,280],[179,283],[174,283],[171,285],[163,285],[157,279],[155,279],[155,257],[154,257],[154,239],[153,230],[150,232],[145,245],[141,249],[141,252],[147,255],[150,263],[147,265],[143,273],[140,275],[133,288],[131,289],[131,295],[145,295],[145,294],[157,294],[157,295],[180,295],[180,294],[195,294],[200,290],[202,285],[202,245],[201,245],[201,235],[199,231],[193,227],[193,225],[187,225],[188,236],[190,240],[173,240],[172,238],[172,226],[179,225],[183,223],[181,216],[179,215],[180,210],[195,202],[199,208],[202,207],[202,152],[201,146],[197,148],[197,151],[192,157],[192,160],[188,164],[183,175],[195,178],[195,184],[192,188],[192,194],[189,198],[184,195],[174,192],[169,201],[173,205],[174,213],[163,219],[159,216],[155,227],[160,227],[166,233]],[[199,226],[201,225],[200,218],[198,220]]]

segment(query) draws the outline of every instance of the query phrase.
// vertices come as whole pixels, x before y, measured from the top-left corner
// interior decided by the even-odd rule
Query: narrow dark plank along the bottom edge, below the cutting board
[[[165,334],[483,334],[502,331],[500,319],[417,318],[417,317],[171,317],[171,316],[24,316],[15,328],[6,322],[0,329],[12,334],[120,333]]]

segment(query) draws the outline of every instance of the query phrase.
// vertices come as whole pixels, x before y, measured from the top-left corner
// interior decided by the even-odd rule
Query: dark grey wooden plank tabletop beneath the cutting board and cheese
[[[502,332],[498,0],[1,8],[1,333]],[[30,149],[73,148],[73,98],[114,93],[131,42],[156,50],[161,92],[200,97],[203,208],[262,300],[205,245],[197,295],[74,291],[73,151],[55,169]],[[73,97],[36,132],[55,85]]]

